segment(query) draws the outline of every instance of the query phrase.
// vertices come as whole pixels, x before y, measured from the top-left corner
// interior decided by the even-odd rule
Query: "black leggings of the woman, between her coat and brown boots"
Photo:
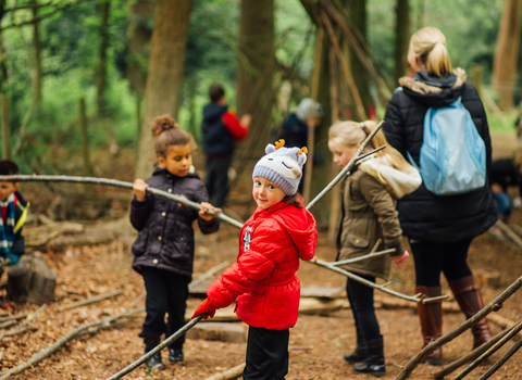
[[[471,276],[468,266],[468,250],[473,239],[452,243],[435,243],[410,240],[415,262],[415,283],[424,287],[440,287],[440,273],[448,281]]]

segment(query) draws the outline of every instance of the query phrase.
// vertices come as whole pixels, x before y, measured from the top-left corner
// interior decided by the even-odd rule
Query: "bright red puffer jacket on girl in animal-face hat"
[[[258,207],[241,228],[237,263],[210,286],[209,301],[221,308],[239,296],[236,313],[248,326],[294,327],[301,289],[296,271],[299,257],[313,257],[315,226],[312,214],[286,202]]]

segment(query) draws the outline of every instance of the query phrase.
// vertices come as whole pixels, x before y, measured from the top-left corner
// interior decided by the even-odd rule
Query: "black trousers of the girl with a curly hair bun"
[[[172,335],[185,325],[187,308],[188,283],[190,278],[169,270],[144,267],[141,276],[147,290],[145,308],[147,316],[139,337]],[[165,314],[169,315],[165,324]],[[185,335],[170,345],[171,349],[182,349]]]

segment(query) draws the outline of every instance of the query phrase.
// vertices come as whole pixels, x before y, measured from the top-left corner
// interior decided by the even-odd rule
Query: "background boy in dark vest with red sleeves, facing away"
[[[214,84],[209,88],[210,103],[203,107],[203,152],[207,159],[206,180],[210,200],[216,207],[223,207],[228,194],[228,168],[234,144],[248,135],[251,116],[246,114],[239,121],[228,110],[225,90]]]

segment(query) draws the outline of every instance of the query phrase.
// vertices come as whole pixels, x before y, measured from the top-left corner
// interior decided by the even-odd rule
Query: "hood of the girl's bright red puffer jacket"
[[[318,229],[313,215],[306,208],[298,208],[286,202],[274,204],[269,210],[258,207],[260,217],[273,217],[282,224],[294,244],[299,250],[302,259],[313,258],[318,242]]]

